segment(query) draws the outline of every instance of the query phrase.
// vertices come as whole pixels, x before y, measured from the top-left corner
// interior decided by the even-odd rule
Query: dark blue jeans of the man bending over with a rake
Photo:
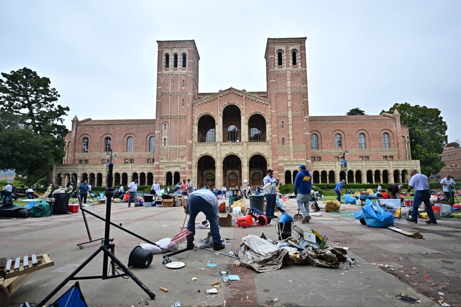
[[[218,226],[218,212],[215,207],[202,199],[198,195],[189,196],[189,221],[187,222],[187,230],[192,232],[192,235],[187,236],[188,242],[194,241],[195,235],[195,218],[197,214],[203,212],[206,216],[206,220],[209,222],[209,230],[213,238],[214,244],[221,244],[221,235],[219,234]]]

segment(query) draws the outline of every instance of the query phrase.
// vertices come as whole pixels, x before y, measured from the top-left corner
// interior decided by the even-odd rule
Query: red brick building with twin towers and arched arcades
[[[114,184],[186,178],[201,187],[260,185],[268,168],[291,183],[305,163],[314,183],[407,182],[408,127],[399,113],[310,116],[305,37],[268,38],[266,92],[229,87],[199,93],[194,40],[157,41],[156,119],[79,121],[66,137],[55,184],[69,178],[106,185],[106,155],[117,155]],[[347,168],[340,153],[347,152]]]

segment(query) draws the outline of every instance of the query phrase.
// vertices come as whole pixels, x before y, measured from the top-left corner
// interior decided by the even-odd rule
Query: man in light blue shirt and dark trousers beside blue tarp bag
[[[421,203],[426,205],[426,212],[429,216],[427,224],[437,224],[435,220],[434,211],[431,205],[431,188],[429,187],[429,178],[426,175],[418,173],[416,169],[410,170],[411,179],[408,183],[407,194],[410,193],[411,189],[414,188],[414,199],[413,199],[413,211],[411,212],[411,218],[407,218],[408,222],[418,223],[418,207]]]

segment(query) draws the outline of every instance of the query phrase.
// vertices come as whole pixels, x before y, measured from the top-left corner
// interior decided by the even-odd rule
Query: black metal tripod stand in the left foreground
[[[133,279],[134,282],[145,292],[149,295],[151,299],[155,298],[155,294],[149,290],[148,287],[146,287],[142,281],[140,281],[134,274],[133,272],[128,269],[127,266],[122,264],[122,262],[115,257],[115,244],[110,243],[111,239],[109,238],[110,235],[110,226],[111,226],[111,200],[112,196],[114,195],[114,188],[112,187],[112,171],[114,164],[112,163],[112,150],[110,150],[110,162],[108,163],[108,175],[107,175],[107,188],[106,188],[106,198],[107,198],[107,205],[106,205],[106,218],[105,218],[105,227],[104,227],[104,238],[103,238],[103,243],[102,245],[90,256],[88,257],[83,263],[78,266],[75,271],[73,271],[66,279],[64,279],[59,285],[51,291],[50,294],[48,294],[43,300],[41,300],[36,307],[41,307],[43,306],[49,299],[51,299],[62,287],[66,286],[66,284],[70,280],[79,280],[79,279],[111,279],[111,278],[117,278],[117,277],[124,277],[128,276],[131,279]],[[89,211],[87,211],[89,212]],[[113,240],[113,239],[112,239]],[[100,252],[103,253],[103,258],[102,258],[102,275],[97,275],[97,276],[79,276],[75,277],[75,275],[78,274],[83,268],[85,268],[91,260],[93,260]],[[109,258],[111,258],[110,266],[111,266],[111,275],[108,274],[108,264],[109,264]],[[116,274],[115,271],[115,265],[120,268],[121,271],[123,271],[123,274]]]

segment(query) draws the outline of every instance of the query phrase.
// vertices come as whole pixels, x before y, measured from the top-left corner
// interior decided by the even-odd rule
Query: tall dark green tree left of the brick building
[[[0,78],[0,169],[23,176],[46,176],[60,162],[69,107],[56,104],[59,94],[50,79],[28,68]]]

